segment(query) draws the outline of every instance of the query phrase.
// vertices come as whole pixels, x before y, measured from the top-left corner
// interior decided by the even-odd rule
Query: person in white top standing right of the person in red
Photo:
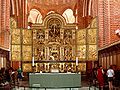
[[[108,83],[109,83],[109,90],[113,90],[113,77],[114,77],[114,70],[112,69],[112,66],[109,67],[107,70],[107,77],[108,77]]]

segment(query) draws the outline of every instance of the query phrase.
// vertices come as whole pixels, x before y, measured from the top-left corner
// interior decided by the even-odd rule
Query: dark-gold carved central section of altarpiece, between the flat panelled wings
[[[33,31],[33,48],[36,60],[63,61],[64,59],[73,59],[75,54],[73,54],[72,46],[75,47],[75,30],[68,29],[68,27],[63,28],[63,24],[66,22],[62,19],[64,18],[57,14],[48,16],[43,22],[45,24],[44,30],[41,27],[41,29]]]

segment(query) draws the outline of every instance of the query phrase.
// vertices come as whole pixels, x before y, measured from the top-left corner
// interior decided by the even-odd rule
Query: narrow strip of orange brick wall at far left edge
[[[10,2],[0,0],[0,47],[9,48]]]

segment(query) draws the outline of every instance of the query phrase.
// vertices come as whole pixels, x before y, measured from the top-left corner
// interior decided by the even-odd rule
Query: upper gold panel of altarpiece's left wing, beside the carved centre
[[[32,30],[22,30],[23,44],[32,44]]]

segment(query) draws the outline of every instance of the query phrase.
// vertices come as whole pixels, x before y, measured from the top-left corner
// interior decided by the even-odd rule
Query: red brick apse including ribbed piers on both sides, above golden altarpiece
[[[87,27],[91,17],[97,16],[97,0],[10,0],[10,2],[11,16],[15,17],[17,22],[22,22],[18,24],[19,27],[27,27],[27,19],[32,9],[38,10],[42,19],[50,11],[62,15],[67,9],[71,9],[74,17],[78,18],[76,23],[80,28]]]

